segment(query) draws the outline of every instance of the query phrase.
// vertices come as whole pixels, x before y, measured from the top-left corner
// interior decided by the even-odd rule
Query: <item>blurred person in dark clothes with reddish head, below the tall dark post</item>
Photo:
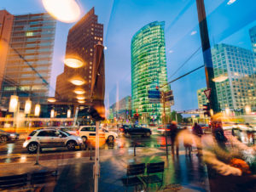
[[[218,146],[222,149],[225,149],[225,143],[227,142],[228,139],[224,135],[224,130],[221,121],[212,122],[212,135],[215,138]]]

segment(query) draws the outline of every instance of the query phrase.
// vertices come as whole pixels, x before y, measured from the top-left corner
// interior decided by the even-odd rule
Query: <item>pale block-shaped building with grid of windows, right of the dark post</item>
[[[216,82],[220,109],[243,110],[256,105],[256,65],[253,52],[228,44],[212,48],[214,76],[228,76]]]

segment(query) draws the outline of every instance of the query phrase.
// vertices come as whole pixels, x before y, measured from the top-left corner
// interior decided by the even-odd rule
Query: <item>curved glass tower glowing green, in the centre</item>
[[[163,104],[148,99],[148,90],[161,88],[167,82],[165,22],[154,21],[143,26],[131,40],[131,110],[144,123],[161,123]],[[166,116],[170,108],[166,109]]]

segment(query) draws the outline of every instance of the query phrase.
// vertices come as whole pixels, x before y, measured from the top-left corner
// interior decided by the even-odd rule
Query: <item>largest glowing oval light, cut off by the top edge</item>
[[[81,10],[74,0],[43,0],[46,11],[56,20],[73,23],[79,20]]]

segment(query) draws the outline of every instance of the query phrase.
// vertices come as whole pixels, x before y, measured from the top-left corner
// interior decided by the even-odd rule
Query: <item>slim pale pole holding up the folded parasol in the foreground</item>
[[[95,164],[94,164],[94,191],[98,192],[98,179],[99,179],[99,126],[100,121],[96,121],[96,148],[95,148]]]

